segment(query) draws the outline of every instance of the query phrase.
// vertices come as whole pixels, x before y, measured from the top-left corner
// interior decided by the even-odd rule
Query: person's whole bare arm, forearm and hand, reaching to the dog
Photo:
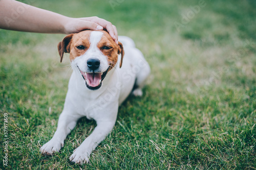
[[[70,18],[14,0],[0,0],[0,29],[62,34],[106,29],[118,44],[116,27],[109,21],[95,16]]]

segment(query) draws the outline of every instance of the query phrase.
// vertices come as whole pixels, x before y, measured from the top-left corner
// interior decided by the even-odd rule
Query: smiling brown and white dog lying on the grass
[[[41,147],[41,154],[59,152],[77,120],[86,116],[97,126],[70,161],[88,163],[92,151],[113,129],[120,104],[130,93],[142,95],[150,66],[131,38],[120,36],[119,41],[117,45],[106,31],[86,30],[58,43],[60,62],[64,53],[70,53],[73,72],[57,130]]]

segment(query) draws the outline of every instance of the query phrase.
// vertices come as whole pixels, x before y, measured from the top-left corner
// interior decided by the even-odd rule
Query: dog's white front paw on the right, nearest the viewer
[[[90,153],[82,152],[78,148],[74,150],[69,160],[78,164],[89,163]]]

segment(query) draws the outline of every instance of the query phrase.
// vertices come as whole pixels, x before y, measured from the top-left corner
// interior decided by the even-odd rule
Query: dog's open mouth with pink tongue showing
[[[87,88],[90,90],[97,90],[101,87],[102,81],[104,80],[109,70],[108,68],[104,72],[83,72],[78,66],[77,68],[81,72],[83,80],[86,81]]]

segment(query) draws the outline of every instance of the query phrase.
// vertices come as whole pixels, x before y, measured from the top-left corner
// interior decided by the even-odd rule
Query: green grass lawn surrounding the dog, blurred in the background
[[[68,160],[96,126],[86,118],[60,153],[45,157],[39,149],[57,128],[72,72],[68,54],[59,63],[64,35],[0,30],[0,126],[3,132],[8,113],[9,137],[8,167],[1,160],[0,168],[255,169],[255,1],[205,0],[178,31],[174,23],[198,3],[132,0],[112,8],[98,0],[33,1],[71,17],[111,21],[119,35],[135,40],[152,74],[143,97],[120,106],[89,164]]]

